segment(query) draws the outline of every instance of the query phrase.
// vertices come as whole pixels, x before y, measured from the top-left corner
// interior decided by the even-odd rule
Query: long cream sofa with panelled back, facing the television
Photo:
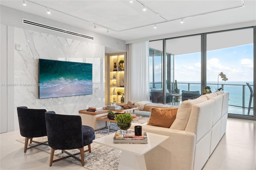
[[[142,125],[145,132],[170,136],[144,155],[147,169],[202,169],[226,132],[228,100],[223,91],[202,95],[181,103],[170,128]]]

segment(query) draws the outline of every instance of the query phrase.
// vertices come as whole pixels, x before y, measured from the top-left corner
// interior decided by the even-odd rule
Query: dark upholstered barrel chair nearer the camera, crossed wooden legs
[[[48,111],[45,113],[46,130],[48,134],[48,143],[51,149],[50,166],[53,162],[63,160],[69,157],[73,157],[80,161],[84,166],[84,152],[91,153],[91,143],[95,139],[94,129],[89,126],[82,125],[80,116],[77,115],[59,115],[54,111]],[[88,146],[87,150],[84,150],[84,146]],[[54,151],[62,150],[68,156],[53,160]],[[71,154],[66,150],[79,149],[80,152]],[[81,155],[81,159],[75,155]]]

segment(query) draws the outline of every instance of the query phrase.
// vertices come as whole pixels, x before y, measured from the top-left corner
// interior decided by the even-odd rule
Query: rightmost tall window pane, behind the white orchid
[[[248,113],[253,88],[253,28],[207,34],[207,85],[230,93],[230,114]],[[225,75],[223,77],[223,75]],[[222,76],[221,76],[222,75]],[[226,78],[225,78],[226,77]],[[253,107],[253,99],[250,102]]]

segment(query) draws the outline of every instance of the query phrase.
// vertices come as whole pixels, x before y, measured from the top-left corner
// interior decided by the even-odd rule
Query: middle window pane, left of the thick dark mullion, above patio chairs
[[[201,91],[201,36],[166,40],[166,51],[174,54],[174,79],[180,93]]]

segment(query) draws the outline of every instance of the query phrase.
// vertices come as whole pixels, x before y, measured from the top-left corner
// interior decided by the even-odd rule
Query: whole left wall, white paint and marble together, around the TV
[[[1,87],[1,132],[3,132],[2,125],[6,127],[6,123],[2,123],[5,121],[7,122],[7,131],[18,129],[16,109],[18,106],[44,108],[59,114],[78,115],[79,110],[86,109],[88,106],[103,106],[105,104],[105,46],[124,51],[126,50],[124,41],[5,6],[1,6],[0,12],[0,79],[1,83],[14,83],[15,85]],[[93,36],[95,40],[28,26],[22,24],[22,18]],[[2,30],[2,28],[5,29]],[[119,45],[116,42],[119,42]],[[16,44],[22,45],[22,50],[17,50]],[[65,61],[79,60],[84,63],[92,63],[92,95],[38,99],[38,87],[25,86],[23,83],[38,83],[39,58],[54,60],[62,58]]]

